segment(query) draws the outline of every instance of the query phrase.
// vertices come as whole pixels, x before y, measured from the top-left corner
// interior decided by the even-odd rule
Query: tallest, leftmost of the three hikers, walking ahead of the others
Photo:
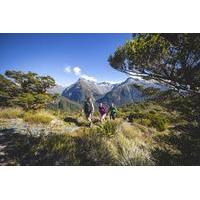
[[[84,113],[85,113],[87,120],[89,121],[89,126],[91,127],[92,126],[92,115],[94,113],[94,104],[92,102],[91,97],[87,97],[86,101],[84,102]]]

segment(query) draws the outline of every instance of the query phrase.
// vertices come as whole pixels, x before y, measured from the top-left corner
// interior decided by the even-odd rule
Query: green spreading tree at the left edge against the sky
[[[53,86],[55,80],[50,76],[7,70],[5,76],[0,75],[0,106],[41,108],[52,99],[47,90]]]

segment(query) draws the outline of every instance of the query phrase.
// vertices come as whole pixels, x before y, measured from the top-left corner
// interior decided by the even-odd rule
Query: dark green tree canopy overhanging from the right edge
[[[199,92],[200,34],[133,34],[133,39],[118,47],[108,61],[129,75]]]

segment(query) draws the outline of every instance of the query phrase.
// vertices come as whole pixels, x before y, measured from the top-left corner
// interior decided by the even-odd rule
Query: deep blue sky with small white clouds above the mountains
[[[107,60],[129,39],[131,34],[0,34],[0,73],[33,71],[65,86],[79,77],[121,82],[127,76]]]

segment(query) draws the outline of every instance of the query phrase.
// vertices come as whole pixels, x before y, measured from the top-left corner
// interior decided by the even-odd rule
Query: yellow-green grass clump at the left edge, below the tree
[[[21,108],[0,108],[0,118],[15,119],[20,118],[24,114]]]

